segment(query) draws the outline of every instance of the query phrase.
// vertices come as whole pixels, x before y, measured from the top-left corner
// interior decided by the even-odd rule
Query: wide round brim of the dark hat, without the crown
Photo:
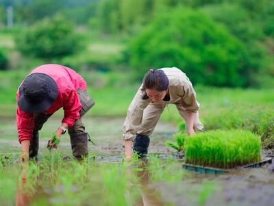
[[[47,98],[45,100],[42,100],[42,102],[39,102],[38,104],[34,104],[33,102],[30,102],[25,96],[23,95],[23,84],[29,76],[32,75],[38,75],[42,78],[44,78],[49,85],[49,93],[47,95]],[[22,111],[25,111],[27,113],[42,113],[44,111],[47,111],[51,104],[57,99],[58,96],[58,87],[56,82],[48,76],[45,73],[32,73],[31,75],[27,76],[25,78],[24,82],[21,84],[21,87],[19,88],[19,98],[18,98],[18,106]]]

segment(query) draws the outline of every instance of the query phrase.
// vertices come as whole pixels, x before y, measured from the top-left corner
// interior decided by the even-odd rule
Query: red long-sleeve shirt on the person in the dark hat
[[[64,118],[62,122],[73,126],[76,119],[79,119],[79,111],[82,106],[77,95],[77,89],[86,90],[86,82],[79,76],[78,73],[73,71],[68,67],[62,65],[42,65],[34,69],[31,73],[45,73],[51,76],[56,82],[58,87],[58,96],[51,104],[51,107],[44,111],[45,114],[53,114],[60,108],[64,109]],[[29,73],[29,74],[31,74]],[[16,93],[16,102],[19,97],[19,89]],[[16,124],[18,130],[18,141],[25,139],[32,139],[32,132],[34,130],[34,119],[32,118],[34,114],[26,113],[21,111],[18,107],[16,108]]]

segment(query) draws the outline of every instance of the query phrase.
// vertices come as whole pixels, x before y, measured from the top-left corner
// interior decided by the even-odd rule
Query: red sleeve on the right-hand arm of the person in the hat
[[[66,123],[69,127],[72,127],[76,119],[80,118],[79,111],[82,108],[77,91],[75,91],[75,89],[66,91],[65,98],[62,102],[64,105],[64,118],[62,119],[62,123]]]

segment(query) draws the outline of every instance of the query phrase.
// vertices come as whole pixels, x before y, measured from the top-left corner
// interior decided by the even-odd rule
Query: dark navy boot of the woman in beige
[[[133,151],[137,152],[138,157],[147,156],[147,148],[149,148],[149,136],[137,134],[133,144]]]

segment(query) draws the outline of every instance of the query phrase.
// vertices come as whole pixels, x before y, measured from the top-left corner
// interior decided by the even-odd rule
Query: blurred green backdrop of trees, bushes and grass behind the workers
[[[84,76],[90,117],[125,117],[148,69],[178,67],[206,128],[274,139],[273,22],[271,0],[0,0],[0,117],[42,64]],[[182,121],[173,106],[162,119]]]

